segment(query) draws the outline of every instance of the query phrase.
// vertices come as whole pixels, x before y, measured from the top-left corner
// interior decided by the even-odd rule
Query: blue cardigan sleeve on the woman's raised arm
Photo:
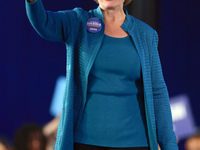
[[[66,41],[72,28],[76,27],[77,14],[74,10],[46,11],[41,0],[26,2],[28,19],[38,34],[51,41]]]

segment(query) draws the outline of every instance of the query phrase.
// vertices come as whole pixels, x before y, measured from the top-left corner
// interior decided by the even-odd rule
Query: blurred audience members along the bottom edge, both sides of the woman
[[[0,150],[54,150],[59,117],[44,127],[36,123],[22,125],[15,133],[12,144],[0,137]],[[188,137],[185,150],[200,150],[200,133]]]

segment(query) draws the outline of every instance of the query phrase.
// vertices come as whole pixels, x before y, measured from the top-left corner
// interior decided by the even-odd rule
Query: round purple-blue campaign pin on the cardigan
[[[102,23],[98,18],[89,18],[87,20],[87,30],[91,33],[97,33],[101,31]]]

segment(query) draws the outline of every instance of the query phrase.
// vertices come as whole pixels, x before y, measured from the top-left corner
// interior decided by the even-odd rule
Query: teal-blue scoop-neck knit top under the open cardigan
[[[141,64],[130,36],[104,36],[88,81],[87,104],[75,142],[148,146]]]

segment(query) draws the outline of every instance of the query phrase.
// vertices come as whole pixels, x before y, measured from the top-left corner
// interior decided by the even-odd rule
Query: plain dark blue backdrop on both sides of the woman
[[[24,0],[0,0],[0,136],[12,140],[25,122],[46,124],[58,76],[65,75],[65,45],[42,39],[31,27]],[[48,10],[86,10],[92,0],[43,0]],[[159,51],[170,96],[186,93],[200,125],[200,1],[159,1]],[[182,143],[181,143],[182,144]],[[180,145],[182,149],[182,145]]]

